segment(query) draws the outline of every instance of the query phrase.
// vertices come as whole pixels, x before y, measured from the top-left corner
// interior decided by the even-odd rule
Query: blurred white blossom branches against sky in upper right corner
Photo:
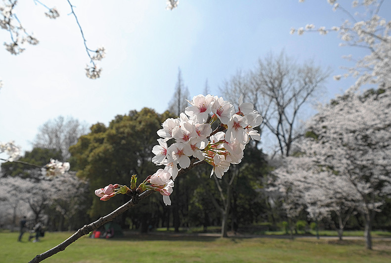
[[[341,26],[333,26],[330,29],[325,27],[315,28],[307,24],[299,29],[291,28],[290,34],[303,35],[304,32],[318,32],[326,35],[329,32],[339,32],[343,41],[340,46],[354,46],[368,49],[369,54],[355,60],[354,67],[346,67],[347,74],[357,77],[356,86],[363,84],[385,85],[391,80],[391,21],[379,16],[379,11],[384,0],[353,0],[352,8],[364,8],[365,11],[357,11],[354,15],[343,7],[337,0],[327,0],[333,6],[333,11],[340,10],[348,15],[349,19]],[[303,2],[302,0],[300,2]],[[360,18],[360,19],[359,19]],[[351,60],[351,57],[348,56]],[[335,80],[341,79],[342,75],[334,76]]]

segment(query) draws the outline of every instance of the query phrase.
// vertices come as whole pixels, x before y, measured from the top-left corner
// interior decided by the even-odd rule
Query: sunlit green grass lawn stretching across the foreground
[[[0,232],[0,262],[27,263],[72,233],[46,232],[40,242],[17,242],[18,232]],[[391,241],[374,240],[372,251],[362,240],[314,238],[217,238],[175,235],[132,235],[105,240],[80,238],[44,263],[390,263]]]

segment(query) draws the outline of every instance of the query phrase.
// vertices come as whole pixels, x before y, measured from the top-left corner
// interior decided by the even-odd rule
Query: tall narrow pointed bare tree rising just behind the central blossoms
[[[169,103],[168,110],[179,116],[179,114],[183,113],[185,108],[188,106],[186,99],[189,99],[189,90],[184,86],[182,72],[180,71],[180,68],[178,68],[178,80],[176,82],[175,92]]]

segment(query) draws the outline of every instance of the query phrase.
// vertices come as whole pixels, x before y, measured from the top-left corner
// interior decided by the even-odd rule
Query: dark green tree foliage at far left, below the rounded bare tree
[[[61,160],[61,151],[45,148],[34,148],[26,151],[24,156],[19,159],[20,162],[27,162],[37,166],[44,166],[50,162],[50,158]],[[1,171],[4,176],[19,176],[28,178],[32,176],[32,170],[38,168],[20,162],[5,162],[1,164]]]

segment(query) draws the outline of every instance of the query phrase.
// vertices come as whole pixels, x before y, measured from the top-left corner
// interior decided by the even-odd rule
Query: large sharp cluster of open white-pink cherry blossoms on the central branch
[[[196,161],[205,161],[213,166],[211,176],[221,178],[230,164],[241,162],[250,139],[261,140],[254,128],[263,118],[253,104],[243,103],[242,97],[238,111],[229,101],[210,94],[194,96],[188,103],[190,106],[185,113],[166,119],[163,128],[157,131],[161,138],[157,140],[159,145],[152,149],[155,154],[152,162],[164,165],[164,169],[147,177],[138,188],[159,191],[166,205],[171,204],[169,196],[179,168],[186,169]],[[214,131],[212,126],[216,127]],[[173,142],[170,146],[169,141]]]

